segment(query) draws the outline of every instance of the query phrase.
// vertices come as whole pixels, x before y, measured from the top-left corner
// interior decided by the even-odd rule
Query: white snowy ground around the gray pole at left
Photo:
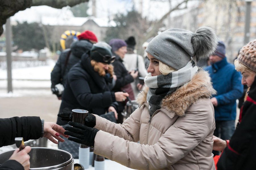
[[[7,93],[7,70],[0,69],[0,97],[51,95],[51,71],[55,61],[47,65],[12,69],[13,93]]]

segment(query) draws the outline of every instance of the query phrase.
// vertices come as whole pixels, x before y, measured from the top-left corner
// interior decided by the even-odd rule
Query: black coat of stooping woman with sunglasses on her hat
[[[94,71],[88,54],[70,69],[62,96],[59,113],[72,109],[84,109],[89,113],[105,114],[110,106],[115,107],[115,94],[109,89],[112,79],[106,79]],[[116,104],[115,104],[116,103]],[[57,124],[65,125],[58,117]]]

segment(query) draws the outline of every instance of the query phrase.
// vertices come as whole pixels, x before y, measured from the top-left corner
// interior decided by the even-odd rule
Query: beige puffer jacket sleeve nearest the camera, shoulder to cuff
[[[188,110],[154,145],[141,145],[98,131],[94,153],[133,169],[169,167],[193,150],[210,131],[213,133],[214,114],[209,103],[195,102]]]

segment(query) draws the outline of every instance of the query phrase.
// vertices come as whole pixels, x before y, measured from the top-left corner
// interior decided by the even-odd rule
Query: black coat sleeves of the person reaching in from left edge
[[[15,137],[23,137],[24,141],[38,139],[42,135],[42,122],[40,117],[24,116],[0,118],[0,147],[15,143]],[[24,170],[23,166],[15,160],[8,160],[0,166],[0,170]]]

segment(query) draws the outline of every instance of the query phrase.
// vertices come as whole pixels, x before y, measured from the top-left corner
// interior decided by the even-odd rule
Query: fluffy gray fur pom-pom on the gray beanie
[[[191,43],[197,60],[207,59],[217,48],[218,38],[211,27],[200,27],[192,36]]]

